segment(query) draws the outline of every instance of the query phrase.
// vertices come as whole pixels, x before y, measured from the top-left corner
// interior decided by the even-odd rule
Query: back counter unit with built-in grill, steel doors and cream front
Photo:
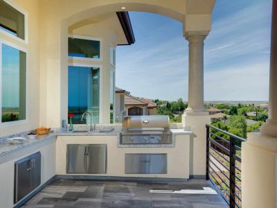
[[[123,128],[109,132],[57,133],[56,174],[188,179],[191,132],[170,129],[168,120],[125,116]]]

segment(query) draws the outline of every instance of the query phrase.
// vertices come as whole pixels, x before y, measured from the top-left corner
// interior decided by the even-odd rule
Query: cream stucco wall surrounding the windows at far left
[[[27,120],[20,124],[0,125],[0,137],[34,129],[39,125],[39,3],[36,0],[12,2],[28,14],[28,42],[1,32],[0,39],[27,50]]]

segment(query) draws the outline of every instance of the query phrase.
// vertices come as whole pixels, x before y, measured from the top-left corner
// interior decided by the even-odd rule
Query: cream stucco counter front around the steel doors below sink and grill
[[[189,177],[190,135],[177,135],[175,148],[118,148],[117,143],[117,136],[57,137],[56,174],[66,175],[66,144],[107,144],[107,173],[93,175],[125,177]],[[125,174],[125,153],[167,153],[168,173]]]

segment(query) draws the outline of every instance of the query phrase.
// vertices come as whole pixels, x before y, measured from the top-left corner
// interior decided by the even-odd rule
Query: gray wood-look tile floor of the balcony
[[[118,182],[102,180],[55,180],[23,207],[228,207],[222,196],[208,194],[150,193],[213,187],[206,180],[188,182]]]

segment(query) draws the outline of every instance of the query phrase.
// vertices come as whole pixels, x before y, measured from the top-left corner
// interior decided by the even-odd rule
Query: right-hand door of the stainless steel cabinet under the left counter
[[[41,155],[36,153],[30,158],[30,191],[39,187],[41,180]]]

